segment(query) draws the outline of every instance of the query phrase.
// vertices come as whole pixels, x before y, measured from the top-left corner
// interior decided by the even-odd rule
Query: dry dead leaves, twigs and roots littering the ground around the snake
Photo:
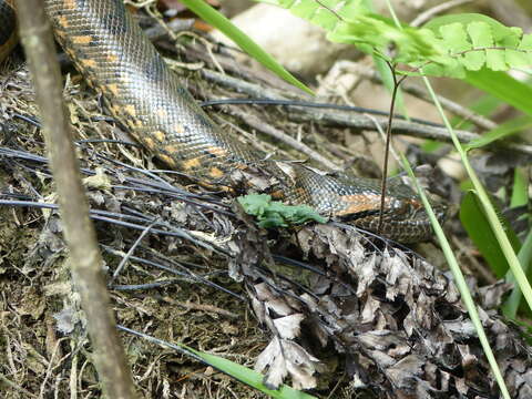
[[[192,43],[180,61],[195,64],[198,49]],[[200,72],[186,76],[197,98],[238,95]],[[9,398],[98,397],[25,69],[8,65],[0,91],[0,388]],[[441,260],[431,244],[423,248],[429,263],[341,224],[259,231],[231,198],[163,170],[132,143],[75,72],[64,92],[121,325],[248,367],[258,361],[272,386],[288,377],[318,397],[495,397],[459,295],[433,267]],[[364,155],[368,142],[380,141],[372,133],[301,125],[282,108],[221,111],[215,117],[227,131],[277,157],[301,155],[248,132],[246,120],[303,136],[313,152],[356,173],[378,170]],[[439,181],[458,195],[450,178]],[[495,284],[477,291],[478,300],[512,397],[530,398],[526,337],[490,310],[505,289]],[[173,350],[122,337],[143,397],[263,397]]]

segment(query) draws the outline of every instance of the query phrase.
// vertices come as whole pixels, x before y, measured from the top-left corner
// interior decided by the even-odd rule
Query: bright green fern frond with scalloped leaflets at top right
[[[485,66],[493,71],[532,65],[532,34],[482,14],[433,19],[423,28],[396,27],[370,12],[362,0],[258,0],[289,9],[327,31],[334,42],[410,68],[402,73],[463,78]]]

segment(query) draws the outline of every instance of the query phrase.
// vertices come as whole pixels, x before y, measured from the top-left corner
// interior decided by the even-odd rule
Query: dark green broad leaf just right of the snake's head
[[[514,250],[519,249],[521,243],[515,233],[509,227],[508,222],[502,218],[500,213],[499,218],[502,219],[501,222],[505,226],[505,232],[510,238],[512,247]],[[472,191],[464,195],[460,205],[460,222],[495,276],[502,278],[509,270],[510,266],[495,235],[493,234],[491,225],[485,217],[482,205]]]

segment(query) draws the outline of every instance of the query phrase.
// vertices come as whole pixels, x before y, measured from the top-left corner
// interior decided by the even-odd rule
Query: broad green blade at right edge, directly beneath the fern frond
[[[513,79],[508,73],[487,69],[468,71],[466,82],[532,115],[532,86]]]

